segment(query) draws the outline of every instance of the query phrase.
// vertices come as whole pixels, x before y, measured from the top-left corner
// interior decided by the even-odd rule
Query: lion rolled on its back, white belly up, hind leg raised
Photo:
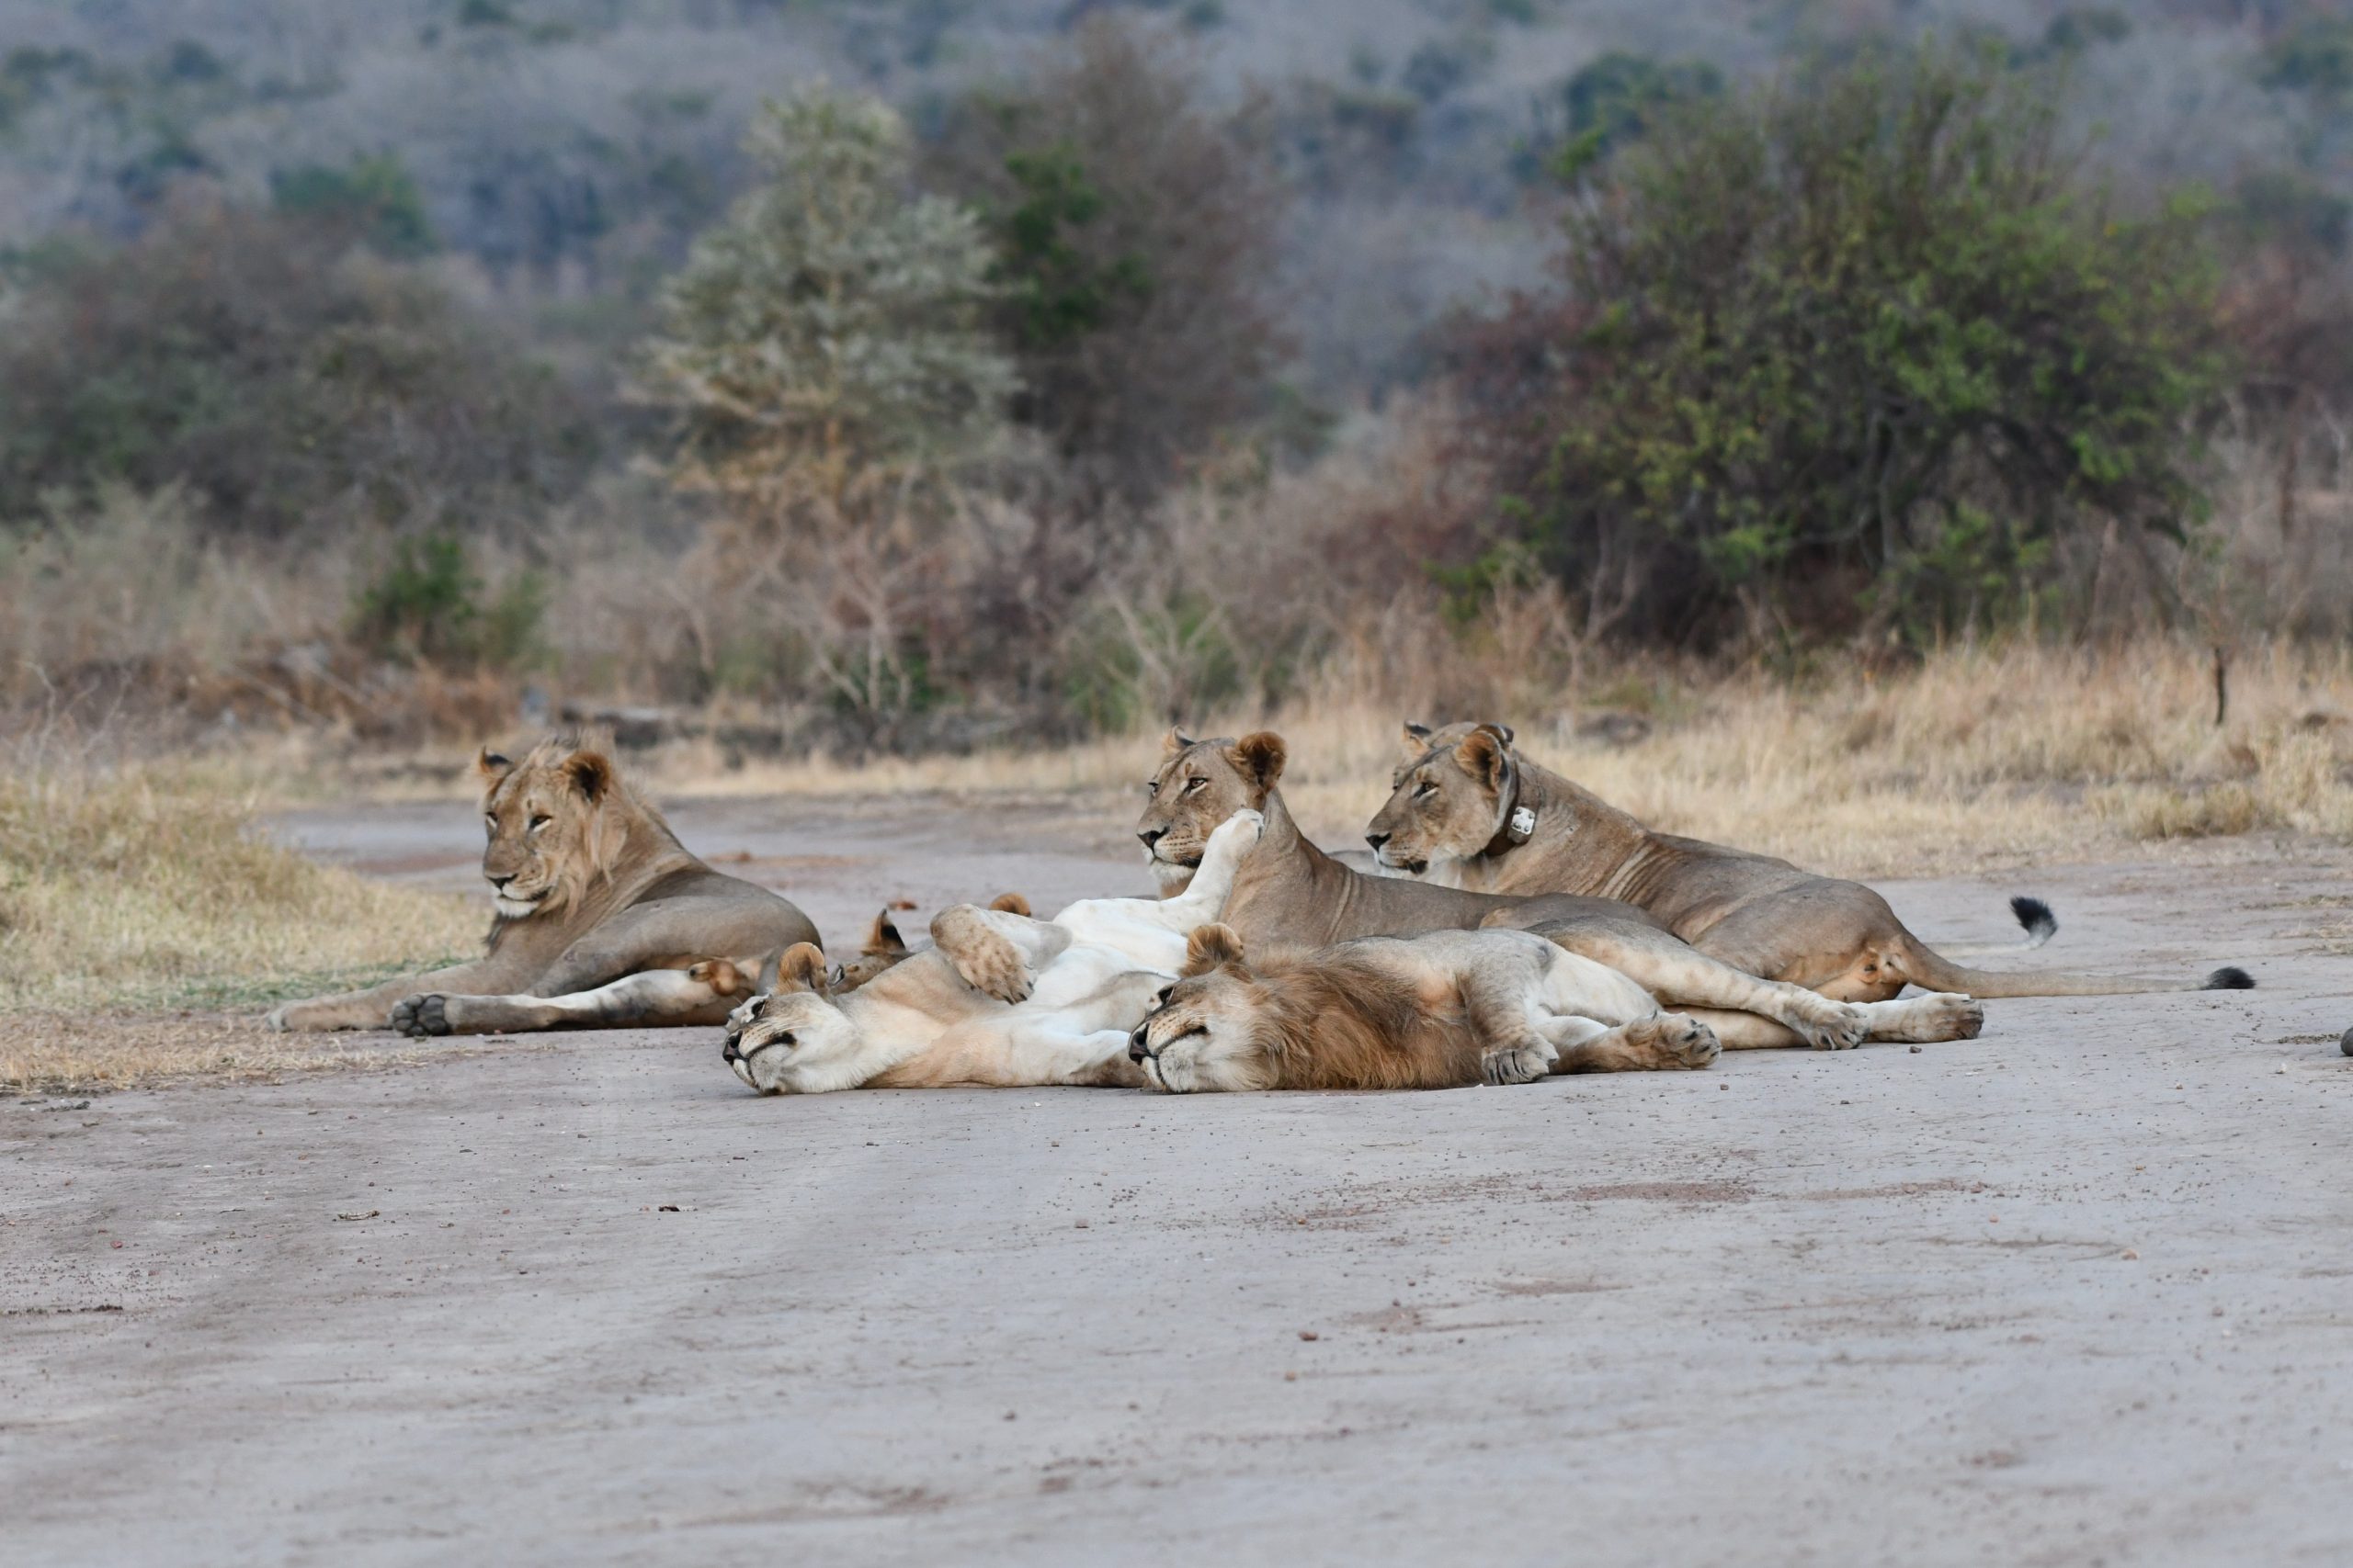
[[[776,990],[727,1018],[720,1056],[760,1093],[1141,1086],[1127,1032],[1184,966],[1186,936],[1217,919],[1259,825],[1238,811],[1209,835],[1179,898],[1087,898],[1049,922],[941,910],[929,950],[849,994],[814,947],[793,947]]]

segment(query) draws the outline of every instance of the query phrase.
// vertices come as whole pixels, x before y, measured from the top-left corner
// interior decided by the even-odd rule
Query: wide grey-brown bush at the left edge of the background
[[[181,484],[207,527],[518,517],[598,454],[591,407],[332,226],[186,207],[31,270],[0,339],[0,517]]]

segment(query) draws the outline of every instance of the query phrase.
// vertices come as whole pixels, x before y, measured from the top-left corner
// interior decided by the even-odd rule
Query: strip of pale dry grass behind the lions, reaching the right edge
[[[1353,844],[1388,795],[1407,717],[1506,719],[1537,762],[1661,830],[1852,877],[2115,858],[2155,839],[2254,830],[2353,839],[2353,668],[2294,646],[2233,661],[2221,729],[2209,656],[2174,644],[1951,651],[1901,675],[1847,670],[1795,686],[1626,670],[1584,693],[1506,686],[1494,705],[1435,703],[1327,686],[1292,710],[1188,726],[1280,729],[1292,750],[1285,795],[1339,844]],[[673,795],[1061,792],[1111,804],[1155,757],[1155,738],[1139,733],[1047,752],[734,771],[708,748],[680,745],[647,769]]]

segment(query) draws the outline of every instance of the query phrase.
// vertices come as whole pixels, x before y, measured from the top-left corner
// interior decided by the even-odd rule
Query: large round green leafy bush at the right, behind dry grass
[[[2087,193],[2049,82],[1927,47],[1687,106],[1569,216],[1567,299],[1487,339],[1506,515],[1649,637],[1922,635],[2054,538],[2200,517],[2202,205]]]

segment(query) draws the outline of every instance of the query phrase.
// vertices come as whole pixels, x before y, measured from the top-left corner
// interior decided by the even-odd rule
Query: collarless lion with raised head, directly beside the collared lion
[[[1365,877],[1339,865],[1299,832],[1278,780],[1282,736],[1193,741],[1169,731],[1160,769],[1146,785],[1151,799],[1136,820],[1146,860],[1160,886],[1184,886],[1209,835],[1235,811],[1261,811],[1266,835],[1242,865],[1219,917],[1252,947],[1322,947],[1365,936],[1424,936],[1428,931],[1525,929],[1560,947],[1621,971],[1675,1009],[1718,1009],[1711,1016],[1727,1048],[1802,1046],[1847,1048],[1864,1039],[1969,1039],[1984,1011],[1969,997],[1927,994],[1854,1006],[1819,992],[1760,980],[1697,952],[1642,910],[1614,898],[1508,898],[1466,893],[1395,877]]]

